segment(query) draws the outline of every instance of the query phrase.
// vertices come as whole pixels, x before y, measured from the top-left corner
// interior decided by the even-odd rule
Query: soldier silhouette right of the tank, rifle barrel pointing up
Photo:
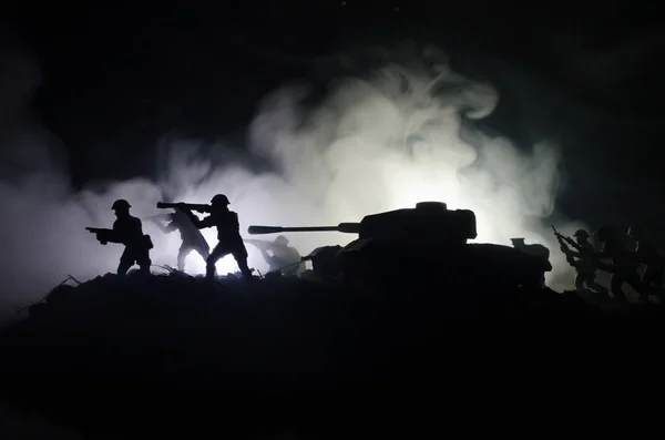
[[[589,233],[584,229],[577,229],[573,234],[575,241],[571,237],[566,237],[556,231],[552,225],[552,231],[559,241],[559,248],[565,255],[565,260],[575,269],[577,273],[575,276],[575,288],[577,290],[584,290],[587,288],[593,291],[606,294],[607,289],[596,282],[596,269],[598,266],[604,266],[595,258],[595,249],[589,242]],[[571,247],[574,248],[571,249]],[[575,259],[577,258],[577,259]]]

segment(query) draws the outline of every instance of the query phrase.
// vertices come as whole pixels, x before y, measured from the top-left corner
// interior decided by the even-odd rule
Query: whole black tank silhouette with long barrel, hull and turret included
[[[339,232],[357,234],[344,247],[323,246],[303,257],[321,280],[359,286],[436,279],[440,286],[535,287],[551,266],[512,246],[468,243],[478,236],[475,214],[421,202],[337,226],[258,226],[249,234]]]

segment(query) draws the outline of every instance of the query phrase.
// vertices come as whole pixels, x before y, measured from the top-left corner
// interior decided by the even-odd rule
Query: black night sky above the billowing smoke
[[[659,223],[665,38],[655,6],[623,3],[23,2],[4,17],[40,60],[39,110],[70,150],[75,183],[144,174],[146,145],[174,127],[211,139],[238,131],[267,91],[316,78],[308,60],[409,38],[499,88],[492,130],[523,144],[560,139],[565,213],[593,222],[642,209]]]

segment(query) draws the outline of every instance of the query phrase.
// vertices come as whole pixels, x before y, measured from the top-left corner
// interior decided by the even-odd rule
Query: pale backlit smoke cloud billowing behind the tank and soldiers
[[[411,49],[378,60],[369,74],[339,78],[317,100],[305,83],[266,96],[248,126],[247,142],[255,156],[272,163],[272,172],[252,172],[227,156],[223,143],[202,156],[195,141],[171,139],[162,141],[166,160],[158,182],[95,184],[79,193],[69,188],[66,173],[53,160],[58,142],[27,104],[39,70],[17,52],[4,57],[3,66],[21,72],[4,75],[0,89],[2,96],[12,98],[2,100],[0,121],[3,151],[11,152],[3,157],[0,184],[3,303],[38,299],[68,274],[86,279],[115,270],[122,248],[100,246],[84,231],[112,225],[115,198],[129,199],[141,217],[158,214],[155,203],[163,197],[207,203],[216,193],[228,195],[243,232],[249,224],[335,225],[420,201],[443,201],[477,213],[479,242],[510,244],[511,237],[525,237],[548,245],[554,280],[567,266],[542,218],[554,209],[556,149],[535,145],[525,155],[505,139],[464,125],[462,114],[489,114],[498,95],[490,85],[452,72],[432,53]],[[570,233],[572,227],[561,229]],[[175,265],[177,234],[163,235],[147,222],[144,229],[155,243],[153,263]],[[214,231],[204,235],[215,243]],[[289,235],[304,254],[352,238]],[[250,266],[265,270],[256,249],[248,250]],[[187,265],[204,272],[197,255]],[[234,270],[235,262],[229,256],[218,269]]]

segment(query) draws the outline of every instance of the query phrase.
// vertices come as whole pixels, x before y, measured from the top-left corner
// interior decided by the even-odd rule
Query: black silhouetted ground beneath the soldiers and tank
[[[661,307],[602,313],[573,294],[436,279],[354,291],[106,275],[30,311],[0,335],[0,396],[90,434],[468,432],[485,415],[659,400],[665,366]]]

